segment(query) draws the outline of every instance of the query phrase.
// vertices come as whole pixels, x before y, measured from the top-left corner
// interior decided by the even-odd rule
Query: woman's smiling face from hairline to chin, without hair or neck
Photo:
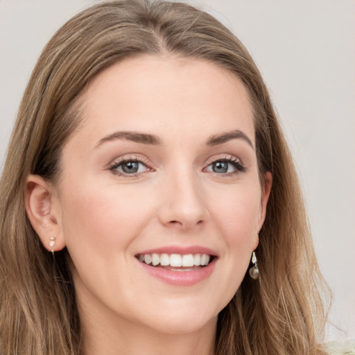
[[[141,56],[92,81],[82,118],[53,199],[80,309],[167,333],[215,327],[268,198],[245,88],[209,62]]]

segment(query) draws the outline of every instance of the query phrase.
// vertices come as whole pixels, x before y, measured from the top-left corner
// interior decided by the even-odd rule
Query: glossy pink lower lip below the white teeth
[[[163,268],[156,268],[155,266],[149,266],[146,263],[142,263],[138,259],[137,261],[141,267],[148,272],[148,274],[160,279],[162,282],[166,282],[166,284],[174,286],[192,286],[202,282],[211,275],[214,271],[217,258],[214,258],[207,266],[191,271],[166,270]]]

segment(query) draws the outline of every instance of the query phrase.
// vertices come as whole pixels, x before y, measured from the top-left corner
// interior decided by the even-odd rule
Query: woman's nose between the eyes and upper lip
[[[190,230],[209,217],[205,194],[197,174],[179,172],[168,175],[162,187],[159,220],[163,225]]]

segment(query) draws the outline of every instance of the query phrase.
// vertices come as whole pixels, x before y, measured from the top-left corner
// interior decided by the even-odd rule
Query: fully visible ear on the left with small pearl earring
[[[58,223],[58,220],[60,220],[60,205],[55,203],[55,200],[57,198],[54,195],[54,188],[49,182],[46,182],[39,175],[28,175],[25,187],[27,216],[44,248],[49,251],[62,250],[65,246],[64,237]]]

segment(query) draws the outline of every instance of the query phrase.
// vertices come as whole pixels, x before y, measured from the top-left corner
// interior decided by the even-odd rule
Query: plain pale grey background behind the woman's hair
[[[0,163],[21,94],[54,31],[91,0],[0,0]],[[327,340],[355,338],[355,1],[190,1],[245,44],[300,171],[320,268],[334,291]],[[340,329],[342,329],[340,331]]]

